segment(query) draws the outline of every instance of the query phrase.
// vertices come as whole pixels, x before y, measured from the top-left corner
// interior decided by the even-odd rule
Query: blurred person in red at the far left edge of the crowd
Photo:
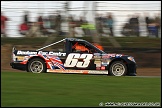
[[[1,12],[1,34],[4,35],[4,37],[6,37],[6,21],[8,21],[9,19],[3,15],[3,13]]]

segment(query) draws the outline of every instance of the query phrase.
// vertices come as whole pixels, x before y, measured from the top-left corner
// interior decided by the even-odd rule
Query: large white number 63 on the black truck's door
[[[92,59],[92,54],[77,54],[71,53],[66,58],[65,67],[79,67],[79,68],[86,68],[88,67],[90,60]],[[78,61],[78,59],[83,59],[83,61]]]

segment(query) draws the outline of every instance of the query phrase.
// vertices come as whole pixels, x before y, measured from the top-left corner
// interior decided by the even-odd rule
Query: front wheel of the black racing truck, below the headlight
[[[124,76],[127,74],[127,66],[122,61],[115,61],[110,65],[109,73],[111,76]]]

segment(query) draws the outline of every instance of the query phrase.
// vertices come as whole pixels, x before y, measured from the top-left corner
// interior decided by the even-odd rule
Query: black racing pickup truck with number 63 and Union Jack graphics
[[[106,53],[94,44],[77,38],[64,38],[36,50],[17,50],[13,47],[10,66],[33,73],[109,76],[136,76],[137,68],[132,56]]]

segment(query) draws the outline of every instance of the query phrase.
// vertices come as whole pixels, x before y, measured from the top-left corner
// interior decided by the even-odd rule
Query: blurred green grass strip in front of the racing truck
[[[2,107],[98,107],[103,102],[161,102],[160,78],[1,72]]]

